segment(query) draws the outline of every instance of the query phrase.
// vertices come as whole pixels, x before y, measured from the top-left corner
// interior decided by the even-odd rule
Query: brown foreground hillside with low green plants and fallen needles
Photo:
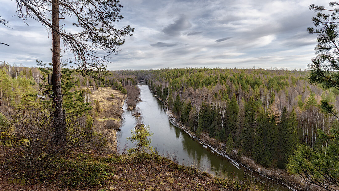
[[[97,154],[91,150],[74,150],[34,174],[19,167],[1,167],[0,177],[0,190],[4,191],[261,190],[178,165],[157,154]]]

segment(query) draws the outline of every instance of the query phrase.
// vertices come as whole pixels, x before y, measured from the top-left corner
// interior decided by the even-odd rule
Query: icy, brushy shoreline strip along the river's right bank
[[[258,176],[262,176],[279,184],[282,184],[290,190],[319,190],[313,185],[306,184],[302,178],[288,174],[285,170],[262,167],[255,163],[252,158],[247,156],[242,155],[241,158],[239,158],[237,156],[237,150],[233,150],[231,155],[228,155],[225,150],[222,149],[225,144],[214,138],[209,137],[205,132],[203,132],[202,136],[198,138],[194,132],[192,132],[189,128],[180,123],[180,121],[178,120],[178,116],[176,116],[170,109],[168,109],[165,101],[163,101],[161,98],[158,98],[153,90],[151,90],[151,92],[158,100],[163,103],[164,107],[166,108],[165,113],[167,114],[172,125],[182,129],[186,134],[196,139],[203,147],[208,147],[211,152],[216,152],[219,155],[227,158],[238,169],[241,167],[245,168],[252,173],[257,174]]]

